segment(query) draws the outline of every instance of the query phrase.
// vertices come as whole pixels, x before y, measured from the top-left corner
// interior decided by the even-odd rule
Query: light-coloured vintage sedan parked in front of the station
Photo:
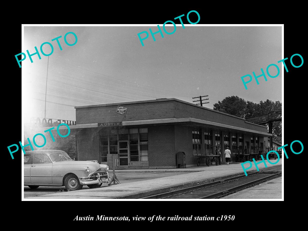
[[[97,161],[74,161],[61,150],[34,150],[24,155],[24,185],[65,186],[79,190],[83,185],[98,188],[108,183],[109,167]]]

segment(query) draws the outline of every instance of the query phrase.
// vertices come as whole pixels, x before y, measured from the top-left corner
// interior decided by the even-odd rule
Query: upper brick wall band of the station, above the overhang
[[[128,108],[125,116],[115,112],[118,105],[76,108],[76,124],[191,117],[267,133],[266,127],[249,124],[240,118],[176,100],[120,105]]]

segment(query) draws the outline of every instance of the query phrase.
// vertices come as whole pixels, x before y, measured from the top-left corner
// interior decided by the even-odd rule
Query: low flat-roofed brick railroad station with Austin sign
[[[76,125],[70,128],[77,160],[97,160],[115,169],[176,168],[177,152],[185,153],[186,167],[197,166],[198,155],[215,154],[218,146],[224,162],[227,146],[232,154],[253,153],[264,150],[272,136],[265,126],[179,99],[75,109]]]

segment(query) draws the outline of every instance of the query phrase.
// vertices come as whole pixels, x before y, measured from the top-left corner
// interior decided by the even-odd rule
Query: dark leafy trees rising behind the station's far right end
[[[281,111],[282,103],[279,101],[271,101],[266,99],[265,102],[253,103],[251,101],[245,101],[245,99],[239,98],[238,96],[228,96],[221,102],[214,104],[214,110],[235,115],[242,118],[248,118],[252,116],[267,114],[271,111]],[[268,124],[266,124],[268,127]],[[273,122],[273,134],[281,137],[282,136],[282,122]]]

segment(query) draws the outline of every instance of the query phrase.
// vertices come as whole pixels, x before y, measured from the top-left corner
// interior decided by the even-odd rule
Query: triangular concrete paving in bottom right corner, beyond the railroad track
[[[266,181],[221,199],[282,199],[282,178]]]

